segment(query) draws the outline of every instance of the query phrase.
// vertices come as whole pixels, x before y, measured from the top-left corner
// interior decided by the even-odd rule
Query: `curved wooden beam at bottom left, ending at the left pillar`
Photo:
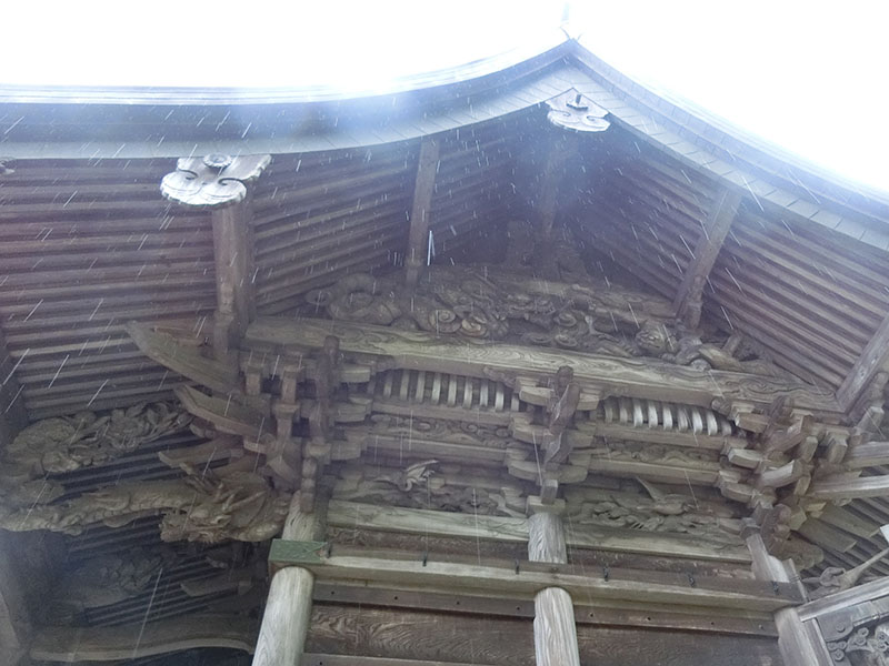
[[[194,614],[116,627],[44,627],[33,637],[31,658],[46,662],[137,659],[194,647],[253,650],[256,622]]]

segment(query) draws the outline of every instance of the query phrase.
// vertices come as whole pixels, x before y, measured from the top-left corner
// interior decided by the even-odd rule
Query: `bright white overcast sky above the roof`
[[[8,0],[0,84],[384,89],[545,42],[562,0]],[[889,191],[886,0],[571,3],[627,74]]]

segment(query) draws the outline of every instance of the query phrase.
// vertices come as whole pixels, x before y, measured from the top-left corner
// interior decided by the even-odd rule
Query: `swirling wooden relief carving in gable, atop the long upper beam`
[[[307,293],[307,314],[419,330],[463,340],[497,340],[609,356],[647,356],[699,371],[773,377],[789,373],[743,349],[741,359],[677,325],[666,302],[613,286],[581,286],[506,272],[447,268],[408,290],[394,279],[351,274]]]

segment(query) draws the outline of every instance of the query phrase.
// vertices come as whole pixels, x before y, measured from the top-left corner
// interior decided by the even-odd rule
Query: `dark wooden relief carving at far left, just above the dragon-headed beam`
[[[181,408],[164,402],[38,421],[0,453],[0,502],[11,506],[52,502],[63,488],[46,478],[48,474],[111,462],[183,430],[190,421]]]

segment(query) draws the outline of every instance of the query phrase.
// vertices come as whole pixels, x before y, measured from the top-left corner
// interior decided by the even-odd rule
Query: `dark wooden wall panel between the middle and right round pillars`
[[[591,666],[782,666],[773,638],[587,626],[578,640]]]

